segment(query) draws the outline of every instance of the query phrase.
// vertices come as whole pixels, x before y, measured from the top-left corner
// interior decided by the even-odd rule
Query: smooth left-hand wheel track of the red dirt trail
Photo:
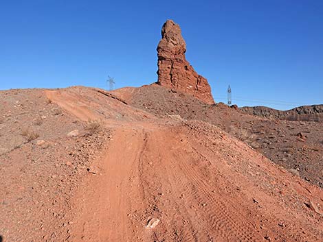
[[[100,167],[100,176],[93,176],[80,189],[76,204],[80,206],[76,241],[126,241],[131,239],[126,222],[129,210],[131,172],[140,158],[144,143],[143,132],[131,128],[115,132]],[[139,142],[138,142],[139,141]],[[132,190],[132,193],[136,189]]]

